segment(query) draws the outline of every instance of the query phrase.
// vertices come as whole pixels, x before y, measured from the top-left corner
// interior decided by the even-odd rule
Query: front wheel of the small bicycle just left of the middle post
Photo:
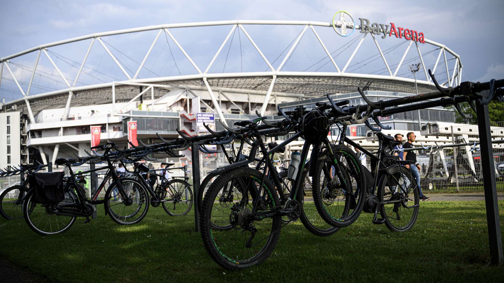
[[[161,199],[164,211],[170,216],[186,215],[193,207],[193,191],[185,181],[172,179],[163,191]]]

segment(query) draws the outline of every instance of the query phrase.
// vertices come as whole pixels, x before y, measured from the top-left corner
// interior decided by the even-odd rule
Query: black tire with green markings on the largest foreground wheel
[[[200,228],[201,228],[201,237],[203,239],[203,243],[205,245],[205,248],[207,249],[208,253],[212,257],[212,259],[217,262],[220,266],[230,269],[230,270],[237,270],[237,269],[243,269],[247,268],[256,264],[259,264],[266,260],[266,258],[271,254],[273,249],[275,248],[275,245],[278,241],[278,237],[280,235],[280,225],[281,225],[281,217],[274,217],[271,218],[271,227],[269,227],[270,221],[268,220],[262,220],[262,221],[250,221],[247,217],[247,213],[251,212],[248,209],[251,208],[250,203],[253,203],[254,199],[252,199],[252,202],[249,201],[248,197],[246,198],[247,201],[243,202],[240,199],[244,199],[242,197],[239,197],[239,188],[237,189],[237,202],[234,202],[234,196],[231,198],[231,202],[233,203],[233,207],[235,207],[235,210],[228,209],[230,212],[230,215],[228,217],[229,223],[231,225],[234,225],[231,229],[228,230],[215,230],[213,229],[213,226],[210,225],[212,222],[212,217],[215,216],[215,213],[213,213],[212,209],[214,206],[214,203],[218,203],[220,206],[221,203],[226,204],[229,203],[229,200],[223,200],[224,196],[220,196],[219,200],[215,202],[216,197],[218,196],[219,192],[221,189],[230,182],[230,180],[234,179],[241,179],[244,180],[245,183],[251,184],[250,182],[253,181],[256,186],[259,185],[261,182],[262,178],[262,173],[251,169],[251,168],[246,168],[246,167],[240,167],[236,168],[233,170],[230,170],[222,175],[220,175],[210,186],[210,189],[208,190],[207,194],[205,195],[205,198],[203,199],[202,202],[202,211],[201,211],[201,219],[200,219]],[[246,182],[248,180],[248,182]],[[257,184],[256,184],[257,183]],[[238,182],[237,182],[238,184]],[[241,184],[241,183],[240,183]],[[275,207],[278,207],[280,205],[278,196],[277,194],[273,191],[274,185],[265,178],[263,187],[268,190],[268,199],[264,203],[266,208],[273,208],[276,209]],[[260,197],[260,196],[257,196]],[[229,208],[229,205],[227,205],[227,208]],[[224,208],[223,209],[227,209]],[[248,210],[248,211],[247,211]],[[221,210],[223,211],[223,210]],[[235,212],[232,212],[235,211]],[[226,211],[223,211],[224,218],[226,218],[225,214]],[[243,214],[243,215],[242,215]],[[242,215],[242,216],[241,216]],[[240,222],[234,222],[235,219],[240,217],[242,220],[242,223]],[[231,218],[233,221],[231,221]],[[248,223],[250,221],[250,223]],[[259,239],[256,239],[255,237],[250,237],[248,241],[250,241],[250,244],[252,243],[253,240],[258,240],[258,242],[255,242],[254,244],[251,244],[250,247],[247,247],[249,250],[245,250],[247,252],[247,255],[244,257],[247,257],[248,255],[251,255],[249,258],[244,258],[241,259],[236,255],[235,253],[239,253],[241,251],[241,255],[243,256],[244,253],[244,248],[245,248],[245,243],[243,239],[247,239],[247,235],[251,234],[248,230],[243,231],[244,233],[241,233],[242,226],[240,225],[254,225],[261,223],[261,226],[259,228],[264,228],[266,227],[266,232],[269,232],[269,234],[266,234],[266,237],[263,237],[265,235],[264,233],[261,234],[259,233],[256,234]],[[257,225],[259,226],[259,225]],[[236,230],[237,233],[232,233],[231,231]],[[212,232],[214,231],[214,232]],[[219,232],[219,233],[218,233]],[[245,233],[246,232],[246,233]],[[215,233],[215,235],[214,235]],[[226,234],[227,233],[227,234]],[[237,237],[245,237],[242,240],[236,240],[232,244],[223,244],[226,237],[232,237],[233,235],[237,235]],[[244,236],[241,236],[244,235]],[[231,240],[232,241],[232,240]],[[257,245],[260,244],[260,245]],[[264,244],[264,245],[263,245]],[[240,245],[243,247],[241,248]],[[261,248],[261,245],[262,248]],[[236,252],[233,252],[235,250]]]

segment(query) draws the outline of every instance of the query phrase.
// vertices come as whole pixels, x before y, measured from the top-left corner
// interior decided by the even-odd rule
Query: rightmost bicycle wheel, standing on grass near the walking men
[[[415,225],[418,217],[419,199],[418,184],[408,169],[402,166],[389,168],[390,175],[384,174],[378,185],[380,202],[401,200],[384,204],[380,214],[385,218],[385,225],[391,231],[405,232]],[[408,208],[410,207],[410,208]]]

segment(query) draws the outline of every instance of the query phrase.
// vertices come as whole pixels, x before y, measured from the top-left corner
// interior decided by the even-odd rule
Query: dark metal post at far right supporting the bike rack
[[[492,137],[490,135],[490,118],[488,105],[476,102],[478,113],[478,130],[480,139],[481,171],[485,190],[486,220],[488,240],[490,243],[490,262],[502,265],[502,239],[500,234],[499,208],[497,203],[497,186],[495,184],[495,167],[493,164]]]

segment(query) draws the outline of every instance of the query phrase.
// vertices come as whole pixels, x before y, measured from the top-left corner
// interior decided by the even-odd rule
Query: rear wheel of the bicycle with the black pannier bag
[[[64,233],[74,225],[76,216],[56,215],[61,205],[80,206],[79,198],[74,190],[65,193],[65,199],[57,204],[35,203],[32,201],[33,191],[29,192],[23,204],[23,216],[26,224],[35,233],[40,235],[55,235]]]

